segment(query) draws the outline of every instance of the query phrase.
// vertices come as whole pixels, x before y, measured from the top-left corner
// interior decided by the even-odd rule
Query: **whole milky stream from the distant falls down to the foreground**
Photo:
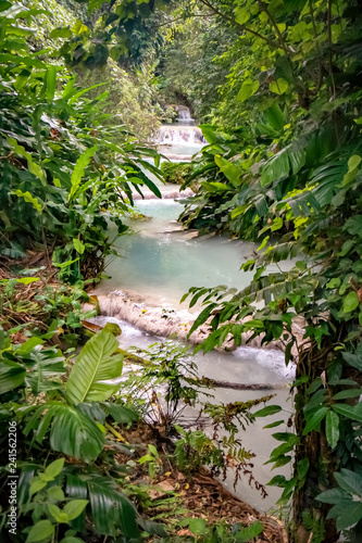
[[[203,143],[198,131],[200,129],[192,125],[184,126],[184,123],[161,128],[161,147],[165,144],[165,140],[175,143],[174,146],[166,143],[172,159],[176,155],[182,160],[190,159],[190,154],[202,148]],[[191,137],[189,134],[192,130],[195,134]],[[165,137],[165,135],[168,136]],[[196,144],[197,150],[195,150]],[[250,254],[258,249],[258,245],[241,240],[232,240],[226,236],[197,237],[195,231],[182,230],[182,226],[176,222],[182,204],[170,198],[172,191],[178,187],[162,186],[160,182],[158,185],[168,198],[163,200],[150,198],[136,202],[139,212],[150,218],[127,219],[134,232],[116,241],[121,258],[109,260],[107,274],[111,278],[102,281],[95,294],[110,296],[114,291],[126,291],[127,295],[140,294],[153,306],[186,315],[189,311],[187,301],[179,305],[179,299],[190,287],[217,285],[237,289],[246,287],[253,274],[240,272],[239,268],[250,258]],[[199,312],[200,306],[196,306],[194,311]],[[120,324],[122,349],[130,345],[147,348],[162,340],[145,329],[140,330],[130,325],[127,319],[117,319],[115,315],[103,315],[92,320],[101,325],[105,321]],[[288,476],[290,472],[288,466],[274,472],[271,471],[271,464],[264,465],[271,451],[279,444],[272,438],[272,433],[287,431],[287,426],[284,424],[276,429],[263,429],[263,427],[282,418],[287,420],[291,411],[288,403],[288,384],[292,380],[292,370],[285,367],[284,354],[273,349],[240,346],[228,353],[213,351],[203,355],[199,352],[194,359],[200,376],[223,381],[277,386],[278,390],[272,391],[276,393],[276,397],[271,403],[282,405],[287,413],[257,418],[255,422],[246,432],[241,431],[239,435],[246,449],[250,449],[257,455],[252,464],[253,475],[259,482],[266,484],[276,472]],[[238,391],[219,388],[215,389],[214,401],[225,404],[236,401],[245,402],[270,393],[271,391],[267,390]],[[262,405],[257,409],[260,407]],[[234,475],[230,469],[228,472],[229,476],[224,484],[230,492],[234,492]],[[269,495],[262,500],[260,493],[250,488],[248,481],[244,479],[238,482],[236,494],[259,510],[270,512],[276,507],[282,489],[267,487],[266,490]]]

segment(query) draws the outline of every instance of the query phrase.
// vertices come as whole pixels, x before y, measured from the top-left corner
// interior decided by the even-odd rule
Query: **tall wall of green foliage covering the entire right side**
[[[241,266],[254,272],[242,291],[190,289],[190,303],[204,304],[192,331],[211,325],[204,351],[228,334],[237,345],[261,334],[263,343],[284,343],[286,364],[297,363],[295,431],[275,434],[282,444],[270,462],[292,462],[294,473],[274,483],[282,503],[294,501],[296,541],[308,540],[312,521],[316,540],[337,541],[347,509],[339,517],[340,504],[333,509],[315,497],[322,489],[341,492],[338,473],[358,478],[362,462],[361,18],[354,0],[201,3],[239,38],[223,55],[230,73],[220,126],[201,127],[209,146],[188,178],[200,188],[180,219],[260,247]],[[279,263],[297,255],[284,272]],[[304,320],[302,344],[296,317]]]

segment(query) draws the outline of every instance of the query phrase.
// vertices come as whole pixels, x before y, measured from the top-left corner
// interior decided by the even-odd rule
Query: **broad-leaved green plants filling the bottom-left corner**
[[[132,409],[104,401],[118,389],[115,383],[111,388],[107,383],[122,371],[122,356],[111,356],[117,342],[105,330],[91,338],[75,361],[65,386],[61,379],[65,372],[64,357],[57,349],[43,349],[42,343],[41,338],[33,337],[12,345],[9,337],[2,337],[2,419],[5,427],[8,420],[17,424],[20,458],[29,447],[33,455],[40,457],[43,451],[63,453],[77,458],[78,465],[67,466],[64,458],[59,458],[43,471],[37,469],[35,476],[35,463],[20,462],[20,522],[25,522],[28,533],[28,539],[20,541],[37,541],[41,530],[43,539],[50,540],[58,533],[58,525],[76,528],[70,535],[74,536],[77,531],[83,532],[86,517],[92,519],[99,534],[116,536],[122,532],[129,540],[139,541],[136,510],[120,493],[113,478],[84,465],[92,463],[104,449],[107,417],[122,422],[137,419]],[[82,383],[77,382],[79,375]],[[28,401],[29,393],[36,403]],[[2,450],[7,443],[4,428]],[[7,472],[1,477],[7,477]],[[29,515],[34,526],[28,522]]]

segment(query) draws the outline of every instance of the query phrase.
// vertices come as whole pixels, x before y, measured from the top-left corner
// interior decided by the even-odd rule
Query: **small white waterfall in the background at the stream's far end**
[[[162,125],[158,134],[158,149],[170,160],[190,160],[192,154],[199,153],[205,144],[202,131],[195,126],[190,110],[186,105],[178,105],[177,122]]]

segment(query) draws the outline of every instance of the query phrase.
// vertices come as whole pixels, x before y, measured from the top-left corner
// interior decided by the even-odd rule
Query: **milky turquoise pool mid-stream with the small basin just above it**
[[[177,303],[190,287],[248,285],[252,273],[239,268],[258,245],[224,236],[195,237],[182,231],[176,218],[183,210],[174,200],[137,201],[149,220],[128,220],[137,233],[118,239],[122,255],[109,263],[104,283],[110,292],[129,289],[160,301]],[[192,237],[194,236],[194,237]]]

